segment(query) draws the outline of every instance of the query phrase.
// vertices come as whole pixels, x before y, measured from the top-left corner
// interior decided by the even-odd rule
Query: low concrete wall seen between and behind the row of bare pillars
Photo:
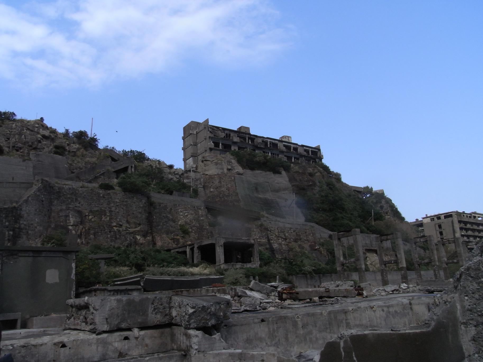
[[[357,272],[346,273],[349,280],[358,280],[359,276]],[[421,271],[423,279],[434,279],[434,273],[432,270]],[[398,285],[401,283],[401,274],[398,271],[387,271],[387,277],[389,284]],[[291,275],[289,276],[292,283],[298,288],[315,288],[322,283],[329,281],[339,281],[341,278],[339,274],[317,274],[317,275]],[[382,286],[381,272],[366,272],[367,282],[375,286]],[[413,271],[408,271],[408,279],[410,284],[416,284],[416,276]]]

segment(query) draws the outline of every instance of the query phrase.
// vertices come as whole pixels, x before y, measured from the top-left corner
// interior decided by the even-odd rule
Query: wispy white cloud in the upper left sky
[[[98,86],[198,59],[264,64],[291,30],[265,0],[0,3],[0,77],[22,86]]]

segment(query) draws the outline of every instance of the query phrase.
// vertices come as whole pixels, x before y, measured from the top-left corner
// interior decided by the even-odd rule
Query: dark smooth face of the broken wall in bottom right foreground
[[[414,327],[393,328],[392,331],[367,331],[366,329],[344,333],[336,340],[327,342],[320,353],[320,361],[459,362],[465,360],[455,302],[441,312],[431,328]]]

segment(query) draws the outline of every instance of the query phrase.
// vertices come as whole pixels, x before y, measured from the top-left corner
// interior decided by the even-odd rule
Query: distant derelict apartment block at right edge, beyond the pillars
[[[483,241],[483,214],[479,212],[450,211],[426,215],[410,223],[420,236],[433,235],[435,240],[461,237],[468,247]]]

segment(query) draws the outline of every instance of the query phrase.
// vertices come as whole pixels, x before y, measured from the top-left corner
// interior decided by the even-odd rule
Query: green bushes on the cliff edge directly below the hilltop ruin
[[[261,152],[253,152],[250,150],[230,151],[230,154],[235,157],[241,168],[249,170],[270,171],[273,173],[282,173],[290,171],[290,162],[282,158],[273,158],[268,154]]]

